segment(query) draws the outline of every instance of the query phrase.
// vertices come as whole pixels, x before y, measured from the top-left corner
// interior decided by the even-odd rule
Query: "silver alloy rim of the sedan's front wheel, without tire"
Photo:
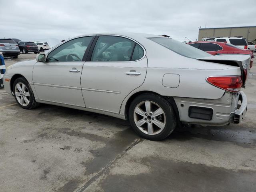
[[[28,106],[30,102],[30,93],[23,83],[17,83],[15,86],[15,97],[22,106]]]

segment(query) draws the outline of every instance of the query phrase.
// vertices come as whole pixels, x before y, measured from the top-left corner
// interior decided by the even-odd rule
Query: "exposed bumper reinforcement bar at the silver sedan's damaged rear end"
[[[247,97],[244,92],[239,93],[238,101],[242,104],[238,104],[238,108],[235,110],[233,123],[240,123],[244,118],[246,111],[247,111]]]

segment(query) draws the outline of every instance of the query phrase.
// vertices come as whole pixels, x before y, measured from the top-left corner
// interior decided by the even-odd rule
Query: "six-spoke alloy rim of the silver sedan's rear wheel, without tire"
[[[134,122],[140,131],[148,135],[156,135],[164,130],[166,115],[155,102],[142,101],[134,108]]]

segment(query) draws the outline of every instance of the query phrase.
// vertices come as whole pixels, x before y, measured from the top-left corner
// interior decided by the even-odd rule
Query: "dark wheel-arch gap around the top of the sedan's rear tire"
[[[129,108],[130,108],[130,104],[132,103],[132,101],[139,95],[141,94],[144,94],[144,93],[151,93],[151,94],[156,94],[156,95],[159,95],[161,96],[160,94],[156,93],[156,92],[152,92],[152,91],[140,91],[140,92],[137,92],[135,94],[133,94],[132,96],[130,96],[130,98],[127,100],[126,102],[126,106],[125,106],[125,111],[124,111],[124,115],[125,115],[125,119],[128,120],[128,112],[129,112]],[[178,107],[176,105],[176,102],[174,100],[173,97],[170,97],[170,96],[162,96],[164,97],[173,107],[174,109],[174,112],[175,112],[175,115],[176,115],[176,120],[177,120],[177,123],[178,123],[178,126],[180,127],[181,126],[181,122],[180,122],[180,114],[179,114],[179,110],[178,110]]]

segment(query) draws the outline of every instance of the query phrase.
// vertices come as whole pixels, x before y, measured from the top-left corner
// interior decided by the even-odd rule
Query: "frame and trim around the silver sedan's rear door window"
[[[126,38],[126,39],[129,39],[129,40],[131,40],[131,41],[133,41],[134,42],[134,48],[135,48],[135,45],[136,44],[138,44],[140,47],[142,47],[142,49],[143,49],[143,51],[144,51],[144,55],[142,56],[142,58],[140,58],[139,60],[135,60],[135,61],[106,61],[106,62],[108,62],[108,63],[116,63],[116,62],[118,62],[118,63],[120,63],[120,62],[137,62],[137,61],[140,61],[140,60],[142,60],[142,59],[144,59],[144,57],[146,56],[146,49],[144,48],[144,46],[142,46],[139,42],[137,42],[136,40],[134,40],[134,39],[132,39],[132,38],[129,38],[129,37],[127,37],[127,36],[122,36],[122,35],[110,35],[110,34],[102,34],[102,35],[96,35],[96,38],[94,38],[94,42],[92,43],[92,46],[91,46],[91,48],[90,48],[90,51],[89,51],[89,54],[88,54],[88,57],[87,57],[87,59],[86,59],[86,62],[97,62],[97,63],[103,63],[104,61],[91,61],[91,59],[92,59],[92,52],[93,52],[93,50],[94,50],[94,47],[95,47],[95,45],[96,45],[96,42],[97,42],[97,40],[98,40],[98,38],[100,37],[100,36],[114,36],[114,37],[123,37],[123,38]],[[134,51],[134,49],[132,50],[132,54],[133,54],[133,51]],[[131,54],[131,58],[132,58],[132,54]],[[130,59],[131,59],[130,58]]]

